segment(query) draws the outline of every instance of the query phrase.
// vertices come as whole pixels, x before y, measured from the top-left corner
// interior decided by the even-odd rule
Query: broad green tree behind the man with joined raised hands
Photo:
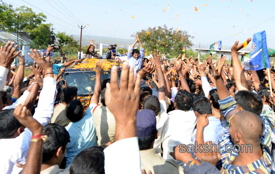
[[[172,57],[183,53],[183,48],[190,48],[193,45],[190,39],[194,38],[188,35],[187,31],[173,30],[166,25],[141,30],[131,36],[135,37],[136,34],[148,52],[158,49],[162,54],[169,54]]]

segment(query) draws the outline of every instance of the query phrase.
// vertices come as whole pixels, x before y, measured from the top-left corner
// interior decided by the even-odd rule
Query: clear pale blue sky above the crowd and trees
[[[25,5],[31,7],[34,12],[41,12],[22,0],[3,1],[11,3],[14,8]],[[65,10],[58,0],[25,1],[73,25],[71,26],[46,14],[46,23],[53,23],[54,28],[56,28],[55,32],[65,31],[68,35],[80,32],[77,24],[81,23],[76,24],[75,20],[70,20],[71,17],[56,5],[58,3]],[[208,44],[218,41],[275,16],[274,0],[59,1],[83,22],[84,26],[86,25],[83,35],[133,39],[131,34],[136,31],[166,24],[169,28],[173,27],[188,31],[190,35],[195,37],[192,39],[193,44],[199,44],[199,42]],[[69,19],[47,2],[67,15]],[[195,6],[197,6],[197,12],[195,12]],[[166,8],[166,11],[163,11],[164,8]],[[178,18],[176,18],[176,15],[179,15]],[[131,16],[135,17],[132,18]],[[253,33],[262,30],[267,33],[267,46],[275,48],[275,18],[234,37],[222,40],[222,45],[230,46],[236,39],[245,41],[248,37],[253,37]]]

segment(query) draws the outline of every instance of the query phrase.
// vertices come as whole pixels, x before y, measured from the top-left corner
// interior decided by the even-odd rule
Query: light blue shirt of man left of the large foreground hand
[[[92,117],[93,108],[96,105],[97,104],[91,103],[81,120],[74,123],[70,122],[69,125],[65,127],[69,132],[71,141],[67,145],[67,152],[65,155],[67,158],[66,167],[71,164],[78,153],[88,147],[96,146],[96,129]]]

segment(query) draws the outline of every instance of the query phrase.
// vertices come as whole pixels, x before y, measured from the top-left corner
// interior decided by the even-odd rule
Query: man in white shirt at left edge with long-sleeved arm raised
[[[33,55],[40,57],[37,50],[35,50],[36,53],[32,49],[31,51]],[[33,118],[45,126],[51,120],[53,113],[56,81],[53,78],[52,65],[49,62],[41,59],[36,63],[45,71],[45,77]],[[13,109],[2,111],[0,119],[0,146],[2,149],[0,171],[3,173],[20,173],[22,168],[18,168],[15,164],[25,164],[32,133],[28,128],[24,129],[15,119]]]

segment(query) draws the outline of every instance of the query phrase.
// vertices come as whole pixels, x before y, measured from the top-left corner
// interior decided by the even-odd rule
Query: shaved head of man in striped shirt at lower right
[[[234,129],[247,143],[260,143],[263,134],[263,122],[260,117],[249,111],[239,111],[231,120]]]

